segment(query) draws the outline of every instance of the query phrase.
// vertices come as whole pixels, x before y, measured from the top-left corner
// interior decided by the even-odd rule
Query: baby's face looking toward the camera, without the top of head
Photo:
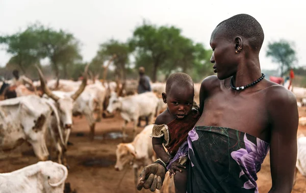
[[[190,114],[193,106],[194,88],[187,87],[172,87],[167,93],[167,105],[169,112],[176,119],[184,119]]]

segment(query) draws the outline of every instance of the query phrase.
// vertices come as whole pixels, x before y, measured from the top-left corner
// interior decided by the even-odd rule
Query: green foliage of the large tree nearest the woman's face
[[[129,45],[136,53],[136,67],[144,66],[153,82],[157,80],[158,71],[162,71],[165,78],[176,71],[207,74],[211,52],[184,37],[174,26],[158,27],[144,21],[136,27]]]

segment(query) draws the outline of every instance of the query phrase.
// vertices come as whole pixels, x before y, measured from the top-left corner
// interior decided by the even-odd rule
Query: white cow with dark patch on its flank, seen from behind
[[[53,112],[63,144],[59,116],[53,104],[35,95],[0,101],[0,150],[11,150],[27,141],[35,155],[40,160],[46,160],[49,155],[45,142],[46,128]]]

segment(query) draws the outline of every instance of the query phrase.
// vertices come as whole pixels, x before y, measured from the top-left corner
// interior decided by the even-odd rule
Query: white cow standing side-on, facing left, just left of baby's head
[[[159,99],[152,92],[145,92],[138,95],[118,97],[117,93],[112,93],[107,107],[109,113],[115,110],[120,111],[124,120],[122,125],[123,141],[125,141],[125,128],[128,122],[134,121],[133,139],[135,137],[138,118],[148,117],[148,122],[152,122],[156,112],[159,112]]]

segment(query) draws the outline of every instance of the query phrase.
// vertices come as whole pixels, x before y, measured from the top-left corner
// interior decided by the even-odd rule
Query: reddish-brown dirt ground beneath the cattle
[[[299,109],[300,116],[306,116],[306,108]],[[89,141],[89,128],[84,118],[74,118],[74,128],[68,146],[68,163],[70,166],[66,182],[71,189],[83,192],[139,192],[134,186],[133,170],[127,167],[124,171],[114,170],[116,162],[116,146],[122,142],[120,126],[122,119],[119,115],[103,119],[96,124],[96,134],[93,142]],[[144,122],[142,123],[144,124]],[[138,132],[142,128],[138,128]],[[131,142],[132,124],[127,126],[127,142]],[[306,126],[299,127],[299,133],[306,134]],[[55,159],[54,148],[49,147],[52,158]],[[27,144],[0,158],[0,173],[12,172],[36,163],[38,160],[33,150]],[[258,173],[259,192],[268,192],[271,187],[269,156],[266,157],[261,171]],[[123,178],[122,178],[123,177]],[[122,182],[120,183],[120,180]],[[141,192],[150,192],[148,190]],[[298,174],[297,182],[292,192],[306,192],[306,177]]]

